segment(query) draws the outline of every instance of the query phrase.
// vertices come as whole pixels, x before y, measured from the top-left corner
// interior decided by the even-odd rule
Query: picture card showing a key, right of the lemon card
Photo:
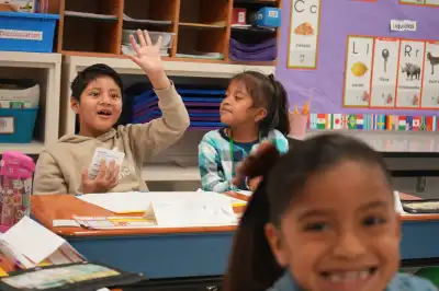
[[[399,39],[374,39],[370,107],[395,106],[398,57]]]

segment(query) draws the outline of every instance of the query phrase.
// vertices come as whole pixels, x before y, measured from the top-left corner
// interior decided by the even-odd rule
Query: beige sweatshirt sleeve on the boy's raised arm
[[[173,84],[155,92],[161,117],[147,124],[126,127],[130,147],[139,164],[178,141],[189,127],[188,110]]]

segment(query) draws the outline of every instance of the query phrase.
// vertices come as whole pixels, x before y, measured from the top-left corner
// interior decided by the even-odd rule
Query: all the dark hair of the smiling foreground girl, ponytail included
[[[308,178],[344,161],[365,163],[390,175],[380,153],[357,139],[339,133],[318,135],[295,142],[280,155],[274,147],[248,160],[249,178],[262,176],[235,234],[226,271],[225,291],[264,291],[282,275],[264,235],[268,222],[280,226],[291,200],[301,195]],[[342,177],[340,177],[342,178]]]

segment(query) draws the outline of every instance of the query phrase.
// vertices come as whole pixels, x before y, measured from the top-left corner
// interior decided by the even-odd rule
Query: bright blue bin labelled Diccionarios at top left
[[[58,14],[0,12],[0,50],[52,53]]]

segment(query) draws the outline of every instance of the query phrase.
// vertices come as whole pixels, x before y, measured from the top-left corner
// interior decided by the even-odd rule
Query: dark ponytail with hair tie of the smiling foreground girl
[[[264,234],[264,226],[270,221],[267,176],[279,158],[279,152],[271,146],[259,156],[251,158],[250,165],[246,167],[248,177],[263,176],[263,179],[248,202],[235,233],[224,280],[225,291],[266,291],[282,273]]]

